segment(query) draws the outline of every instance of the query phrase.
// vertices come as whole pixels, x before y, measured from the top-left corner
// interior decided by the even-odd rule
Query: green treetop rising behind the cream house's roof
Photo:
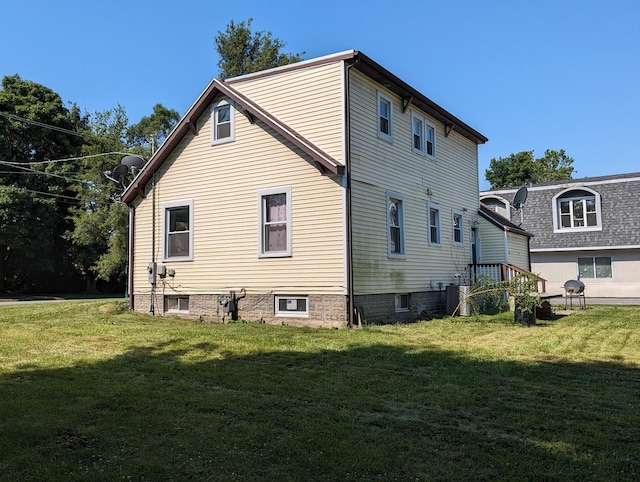
[[[251,72],[292,64],[302,60],[301,54],[280,52],[286,45],[280,39],[273,38],[271,32],[252,32],[253,19],[236,24],[229,22],[224,32],[218,31],[214,38],[215,48],[220,60],[218,76],[221,79],[236,77]]]

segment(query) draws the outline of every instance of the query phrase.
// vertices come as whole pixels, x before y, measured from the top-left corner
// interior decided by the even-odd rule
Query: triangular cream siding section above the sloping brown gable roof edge
[[[343,63],[310,66],[266,77],[238,78],[249,97],[340,163],[343,162]]]

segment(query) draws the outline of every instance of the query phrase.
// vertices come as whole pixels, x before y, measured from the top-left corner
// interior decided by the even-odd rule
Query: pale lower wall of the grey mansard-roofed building
[[[561,294],[567,280],[578,278],[578,258],[591,256],[611,257],[612,277],[583,278],[587,298],[640,297],[640,249],[533,252],[532,271],[547,280],[547,292]]]

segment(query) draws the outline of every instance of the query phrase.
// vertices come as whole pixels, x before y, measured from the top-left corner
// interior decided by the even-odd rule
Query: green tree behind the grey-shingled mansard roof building
[[[573,159],[564,149],[547,149],[543,157],[534,159],[533,151],[522,151],[508,157],[491,159],[485,177],[491,189],[512,188],[527,184],[571,179]]]

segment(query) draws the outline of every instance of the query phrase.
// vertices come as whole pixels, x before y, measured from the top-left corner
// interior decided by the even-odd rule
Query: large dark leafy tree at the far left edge
[[[2,79],[0,114],[0,291],[62,291],[77,277],[64,232],[76,202],[70,186],[78,163],[50,160],[80,153],[77,131],[86,118],[51,89],[19,75]]]

